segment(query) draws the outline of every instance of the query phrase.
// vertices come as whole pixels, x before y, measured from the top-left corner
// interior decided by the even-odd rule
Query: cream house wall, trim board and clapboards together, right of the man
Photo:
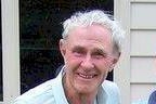
[[[156,0],[115,0],[115,16],[126,30],[115,81],[130,104],[156,90]]]

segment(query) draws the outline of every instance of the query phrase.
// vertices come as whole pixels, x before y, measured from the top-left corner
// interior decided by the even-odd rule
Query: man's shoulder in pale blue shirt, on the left
[[[43,82],[20,95],[13,104],[42,104],[43,102],[54,102],[52,84],[54,79]],[[49,101],[50,100],[50,101]],[[50,104],[50,103],[48,103]]]

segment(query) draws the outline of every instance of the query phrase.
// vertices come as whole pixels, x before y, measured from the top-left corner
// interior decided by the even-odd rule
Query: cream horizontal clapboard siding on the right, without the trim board
[[[130,6],[131,101],[156,89],[156,0],[132,0]]]

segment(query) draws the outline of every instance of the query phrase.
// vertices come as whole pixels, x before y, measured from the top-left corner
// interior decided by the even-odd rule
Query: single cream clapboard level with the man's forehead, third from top
[[[156,55],[156,29],[131,30],[131,55],[155,56]]]

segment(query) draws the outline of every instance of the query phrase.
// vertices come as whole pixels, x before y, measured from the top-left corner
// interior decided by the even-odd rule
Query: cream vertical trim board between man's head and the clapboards
[[[114,16],[126,31],[120,61],[114,69],[114,80],[121,93],[121,104],[131,104],[130,91],[130,0],[114,0]]]

